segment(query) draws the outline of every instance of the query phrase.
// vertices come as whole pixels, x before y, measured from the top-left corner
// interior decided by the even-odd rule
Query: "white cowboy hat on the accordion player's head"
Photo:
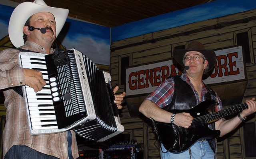
[[[64,26],[68,17],[68,9],[54,8],[47,6],[43,0],[32,2],[23,2],[19,4],[12,12],[8,32],[12,44],[18,48],[24,45],[23,27],[28,18],[39,12],[49,12],[54,15],[56,21],[56,37]]]

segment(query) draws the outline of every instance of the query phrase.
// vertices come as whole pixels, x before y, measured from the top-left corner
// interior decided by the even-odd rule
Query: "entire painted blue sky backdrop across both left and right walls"
[[[58,39],[66,48],[76,48],[95,63],[110,65],[110,38],[114,42],[255,8],[256,0],[216,0],[113,28],[68,18]],[[14,7],[0,5],[0,10],[1,39],[8,35],[8,22]]]

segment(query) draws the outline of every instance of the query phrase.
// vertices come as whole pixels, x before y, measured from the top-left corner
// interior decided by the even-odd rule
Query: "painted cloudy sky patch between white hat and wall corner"
[[[94,63],[110,65],[110,28],[72,19],[67,19],[65,25],[69,28],[63,46],[83,52]]]

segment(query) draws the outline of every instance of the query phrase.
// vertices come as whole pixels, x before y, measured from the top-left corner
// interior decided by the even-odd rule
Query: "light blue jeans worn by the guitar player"
[[[167,150],[161,145],[162,151]],[[183,151],[182,153],[162,153],[160,149],[161,159],[214,159],[214,152],[212,151],[208,141],[196,141],[192,147],[190,147],[191,154],[189,150]]]

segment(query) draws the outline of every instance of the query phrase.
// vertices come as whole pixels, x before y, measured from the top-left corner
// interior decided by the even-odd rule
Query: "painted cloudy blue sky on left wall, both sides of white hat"
[[[0,5],[0,39],[8,35],[14,7]],[[58,39],[67,49],[76,48],[96,64],[110,65],[110,28],[68,18]]]

